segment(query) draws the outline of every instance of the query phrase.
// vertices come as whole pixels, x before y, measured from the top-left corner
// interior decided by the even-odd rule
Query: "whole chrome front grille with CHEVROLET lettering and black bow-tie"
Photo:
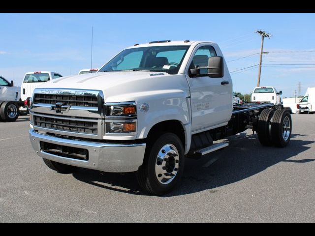
[[[35,130],[59,135],[103,139],[102,91],[34,89],[30,110]]]

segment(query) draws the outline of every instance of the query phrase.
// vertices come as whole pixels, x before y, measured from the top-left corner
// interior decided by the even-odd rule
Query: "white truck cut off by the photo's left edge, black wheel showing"
[[[14,121],[19,117],[19,106],[23,104],[20,91],[12,80],[0,76],[0,120]]]

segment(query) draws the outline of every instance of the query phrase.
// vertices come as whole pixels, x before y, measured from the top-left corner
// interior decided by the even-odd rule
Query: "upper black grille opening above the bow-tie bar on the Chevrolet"
[[[56,102],[63,102],[69,106],[97,107],[98,101],[96,96],[87,95],[56,95],[56,94],[34,94],[34,102],[55,105]]]

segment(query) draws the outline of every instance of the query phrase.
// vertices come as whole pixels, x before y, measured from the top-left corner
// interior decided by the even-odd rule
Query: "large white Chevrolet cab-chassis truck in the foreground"
[[[214,141],[251,128],[262,145],[289,143],[289,112],[272,103],[233,106],[232,98],[216,43],[135,44],[96,73],[34,89],[30,140],[57,172],[136,172],[143,189],[162,195],[179,182],[185,157],[228,146]]]

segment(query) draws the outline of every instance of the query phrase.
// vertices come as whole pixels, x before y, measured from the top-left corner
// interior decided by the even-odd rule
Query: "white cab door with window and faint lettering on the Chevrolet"
[[[222,56],[219,47],[201,44],[196,46],[191,58],[187,78],[190,87],[191,128],[192,132],[226,125],[232,114],[232,80],[225,62],[224,76],[211,78],[208,69],[200,69],[200,74],[192,76],[190,68],[195,65],[208,66],[208,60],[213,56]]]

